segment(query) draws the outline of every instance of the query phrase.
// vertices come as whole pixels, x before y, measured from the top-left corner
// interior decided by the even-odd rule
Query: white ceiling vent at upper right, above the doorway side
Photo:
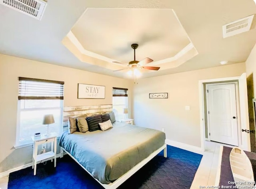
[[[252,25],[253,16],[254,15],[251,15],[246,18],[242,18],[240,20],[236,20],[235,22],[230,22],[222,26],[223,38],[227,38],[249,31]]]

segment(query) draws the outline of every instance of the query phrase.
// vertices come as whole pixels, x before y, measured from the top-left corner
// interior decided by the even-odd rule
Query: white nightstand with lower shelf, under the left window
[[[40,137],[31,137],[33,144],[33,158],[32,158],[32,169],[34,169],[34,175],[36,175],[36,163],[45,159],[54,157],[54,167],[56,167],[56,151],[57,151],[57,133],[50,133],[49,135],[42,135]],[[44,143],[51,143],[51,151],[46,153],[37,154],[38,145]],[[54,145],[54,147],[53,147]]]

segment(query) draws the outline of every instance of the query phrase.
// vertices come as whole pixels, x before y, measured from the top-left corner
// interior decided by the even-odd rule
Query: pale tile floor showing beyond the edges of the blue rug
[[[190,189],[198,189],[199,186],[215,185],[220,144],[217,143],[213,145],[210,143],[210,146],[207,151],[198,152],[201,153],[203,157]],[[0,178],[0,189],[7,189],[8,177],[9,176]]]

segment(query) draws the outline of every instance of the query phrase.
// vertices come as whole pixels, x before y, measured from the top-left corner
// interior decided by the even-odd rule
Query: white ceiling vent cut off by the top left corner
[[[42,19],[46,2],[43,0],[0,0],[0,4],[22,12],[38,20]]]

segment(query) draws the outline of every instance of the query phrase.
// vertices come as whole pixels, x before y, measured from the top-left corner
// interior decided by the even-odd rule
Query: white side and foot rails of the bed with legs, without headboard
[[[127,173],[125,173],[124,175],[122,175],[119,179],[115,180],[113,183],[109,183],[109,184],[102,184],[100,181],[98,181],[98,179],[95,179],[92,174],[86,170],[86,168],[84,168],[83,165],[81,165],[76,158],[74,158],[70,153],[68,153],[68,151],[66,151],[64,148],[60,148],[60,158],[63,157],[63,153],[64,151],[70,155],[70,157],[72,157],[72,159],[74,159],[76,161],[76,163],[78,163],[78,165],[80,165],[84,170],[86,170],[87,173],[89,173],[98,183],[100,183],[100,185],[102,185],[105,189],[116,189],[117,187],[119,187],[122,183],[124,183],[124,181],[126,181],[128,178],[130,178],[134,173],[136,173],[141,167],[143,167],[144,165],[146,165],[146,163],[148,163],[151,159],[153,159],[158,153],[160,153],[160,151],[164,150],[164,157],[167,157],[167,145],[164,144],[162,147],[160,147],[159,149],[157,149],[156,151],[154,151],[153,153],[151,153],[146,159],[142,160],[140,163],[138,163],[137,165],[135,165],[132,169],[130,169],[130,171],[128,171]]]

